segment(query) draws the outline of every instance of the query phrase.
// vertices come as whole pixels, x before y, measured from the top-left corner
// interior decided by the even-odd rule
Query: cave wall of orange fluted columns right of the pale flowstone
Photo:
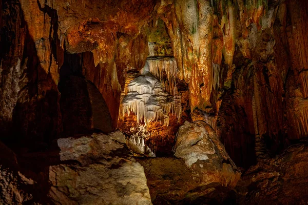
[[[192,118],[211,124],[237,165],[307,136],[307,8],[230,0],[162,1],[158,9],[190,108],[199,110]]]

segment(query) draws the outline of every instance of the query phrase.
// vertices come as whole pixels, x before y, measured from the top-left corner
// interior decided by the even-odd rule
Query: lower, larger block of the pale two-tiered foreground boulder
[[[118,169],[92,164],[50,168],[55,204],[152,204],[143,167],[125,162]]]

